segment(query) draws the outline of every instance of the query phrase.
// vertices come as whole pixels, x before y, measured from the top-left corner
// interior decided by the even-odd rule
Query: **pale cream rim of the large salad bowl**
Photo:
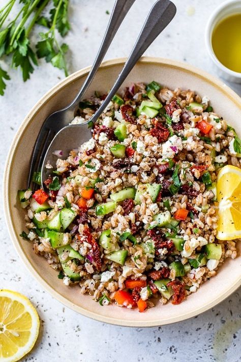
[[[107,60],[102,63],[101,68],[109,68],[115,65],[124,64],[126,62],[126,58],[116,58]],[[146,65],[148,64],[155,64],[155,65],[167,65],[173,68],[179,68],[182,69],[182,71],[186,71],[187,73],[194,73],[195,76],[198,76],[202,79],[204,79],[206,82],[211,83],[213,86],[218,88],[220,91],[225,93],[225,95],[230,98],[238,107],[241,108],[241,98],[233,91],[231,90],[224,82],[217,79],[213,75],[210,75],[206,73],[203,70],[200,70],[196,67],[193,67],[187,63],[183,62],[177,62],[165,58],[154,58],[154,57],[142,57],[138,63],[144,63]],[[116,318],[108,317],[108,316],[101,316],[98,313],[95,313],[93,311],[85,310],[83,307],[79,307],[78,305],[75,305],[70,300],[66,299],[64,296],[56,292],[53,287],[50,286],[50,284],[42,279],[41,275],[38,273],[38,271],[35,269],[31,259],[28,258],[28,256],[24,253],[24,250],[21,248],[20,243],[18,241],[17,232],[14,229],[13,223],[12,223],[12,216],[11,216],[11,210],[10,210],[10,203],[9,203],[9,184],[10,184],[10,176],[11,176],[11,163],[15,157],[16,154],[16,147],[15,145],[18,143],[19,139],[22,137],[22,134],[24,133],[27,125],[31,123],[31,120],[33,116],[39,112],[41,107],[52,97],[54,97],[55,93],[59,91],[59,89],[62,89],[66,87],[71,81],[78,77],[85,76],[89,70],[91,69],[90,66],[85,67],[83,69],[80,69],[76,71],[75,73],[69,75],[67,78],[63,79],[62,81],[58,82],[55,86],[53,86],[45,95],[32,107],[30,112],[26,115],[24,120],[19,126],[18,132],[16,133],[15,137],[13,138],[12,144],[10,146],[10,150],[7,156],[6,164],[5,164],[5,171],[4,171],[4,178],[3,178],[3,200],[4,200],[4,214],[5,214],[5,220],[7,224],[7,228],[11,237],[11,240],[14,244],[14,247],[22,259],[25,267],[31,272],[31,274],[35,277],[35,279],[40,283],[40,285],[46,290],[52,297],[57,299],[59,302],[66,305],[66,307],[71,308],[72,310],[80,313],[81,315],[85,317],[89,317],[92,319],[95,319],[100,322],[105,322],[109,324],[119,325],[119,326],[128,326],[128,327],[154,327],[154,326],[160,326],[160,325],[166,325],[170,323],[180,322],[186,319],[189,319],[191,317],[194,317],[200,313],[203,313],[207,311],[208,309],[214,307],[218,303],[222,302],[225,298],[227,298],[231,293],[233,293],[240,285],[241,285],[241,274],[236,277],[234,282],[229,286],[229,288],[226,290],[225,293],[221,295],[217,295],[216,298],[209,302],[208,304],[204,305],[202,308],[198,308],[196,310],[190,311],[189,313],[184,313],[178,315],[178,317],[169,318],[167,320],[163,319],[162,321],[156,320],[156,321],[141,321],[136,319],[131,319],[133,317],[130,316],[129,320],[119,320]]]

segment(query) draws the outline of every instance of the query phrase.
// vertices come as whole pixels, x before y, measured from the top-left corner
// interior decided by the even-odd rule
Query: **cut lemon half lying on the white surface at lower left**
[[[39,334],[39,316],[24,295],[0,290],[0,360],[15,362],[34,346]]]

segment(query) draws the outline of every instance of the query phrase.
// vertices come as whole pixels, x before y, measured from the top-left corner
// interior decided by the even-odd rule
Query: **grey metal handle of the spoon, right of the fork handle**
[[[150,9],[150,12],[122,72],[119,74],[104,102],[88,122],[95,123],[98,120],[114,94],[118,91],[119,87],[131,72],[136,62],[140,59],[141,55],[165,29],[165,27],[175,16],[175,13],[176,7],[169,0],[158,0],[152,9]]]

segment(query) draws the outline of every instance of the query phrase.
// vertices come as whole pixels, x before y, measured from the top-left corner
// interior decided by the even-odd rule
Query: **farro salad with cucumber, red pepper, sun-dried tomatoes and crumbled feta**
[[[81,102],[72,123],[104,98]],[[90,126],[91,140],[46,165],[48,192],[18,191],[21,236],[101,305],[179,304],[236,257],[235,241],[217,238],[217,175],[241,167],[241,142],[206,96],[156,81],[115,95]]]

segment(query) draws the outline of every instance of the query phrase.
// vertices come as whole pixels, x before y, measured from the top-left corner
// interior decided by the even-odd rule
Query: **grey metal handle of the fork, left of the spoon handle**
[[[114,4],[114,8],[112,10],[112,13],[110,15],[110,20],[107,25],[107,29],[104,35],[104,38],[102,40],[100,49],[98,51],[98,54],[96,56],[96,59],[94,61],[94,64],[91,68],[91,71],[88,73],[87,78],[85,79],[79,93],[73,100],[71,106],[76,106],[79,101],[83,98],[85,92],[87,91],[89,85],[91,85],[91,82],[93,81],[96,72],[101,65],[101,62],[103,61],[103,58],[117,32],[119,29],[120,24],[123,22],[124,18],[126,17],[128,11],[134,4],[135,0],[116,0]]]

